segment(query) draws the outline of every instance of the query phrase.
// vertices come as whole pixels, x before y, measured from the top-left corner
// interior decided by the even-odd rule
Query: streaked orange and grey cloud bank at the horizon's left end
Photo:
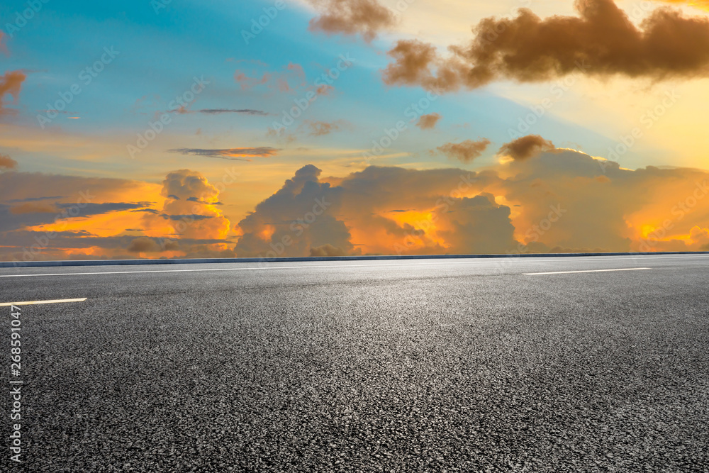
[[[218,205],[218,189],[188,169],[162,185],[3,173],[0,260],[233,256]]]

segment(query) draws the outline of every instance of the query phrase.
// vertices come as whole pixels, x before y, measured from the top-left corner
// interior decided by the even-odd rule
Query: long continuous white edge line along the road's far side
[[[554,260],[539,260],[537,258],[520,258],[520,257],[498,257],[498,258],[470,258],[465,261],[454,261],[454,260],[438,260],[436,262],[425,262],[425,263],[389,263],[389,264],[379,264],[379,265],[303,265],[303,266],[270,266],[270,267],[245,267],[245,268],[213,268],[213,269],[160,269],[152,271],[97,271],[97,272],[60,272],[60,273],[49,273],[49,274],[0,274],[0,277],[38,277],[38,276],[87,276],[91,274],[141,274],[147,272],[205,272],[205,271],[247,271],[247,270],[258,270],[258,269],[303,269],[303,268],[339,268],[339,267],[389,267],[389,266],[433,266],[433,265],[469,265],[471,263],[496,263],[501,260],[505,262],[529,262],[529,263],[544,263],[544,262],[576,262],[576,261],[618,261],[618,260],[637,260],[642,258],[645,260],[669,260],[669,259],[690,259],[697,257],[709,257],[709,255],[678,255],[678,256],[652,256],[652,255],[636,255],[630,257],[618,257],[618,258],[599,258],[593,256],[585,256],[581,258],[570,258],[570,257],[557,257]],[[391,261],[391,260],[389,260]],[[307,261],[304,261],[307,263]],[[184,264],[184,263],[183,263]],[[216,264],[216,263],[200,263],[204,265]],[[219,263],[219,264],[247,264],[247,263]],[[269,263],[270,264],[270,263]],[[69,268],[68,266],[65,268]],[[30,268],[22,268],[30,269]]]

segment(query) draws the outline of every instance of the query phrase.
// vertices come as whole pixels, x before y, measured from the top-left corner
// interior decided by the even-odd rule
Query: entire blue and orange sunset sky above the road
[[[5,1],[0,260],[709,250],[709,1]]]

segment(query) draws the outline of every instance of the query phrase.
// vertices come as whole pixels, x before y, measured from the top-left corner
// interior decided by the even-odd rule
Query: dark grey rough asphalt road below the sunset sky
[[[21,308],[0,464],[707,472],[708,282],[709,256],[0,269],[0,303],[87,298]]]

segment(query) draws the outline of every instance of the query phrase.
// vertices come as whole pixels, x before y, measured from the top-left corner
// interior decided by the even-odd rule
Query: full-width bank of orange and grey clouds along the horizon
[[[479,172],[321,174],[298,169],[231,228],[219,190],[189,169],[162,184],[3,173],[0,258],[709,249],[700,169],[622,169],[554,149]]]

